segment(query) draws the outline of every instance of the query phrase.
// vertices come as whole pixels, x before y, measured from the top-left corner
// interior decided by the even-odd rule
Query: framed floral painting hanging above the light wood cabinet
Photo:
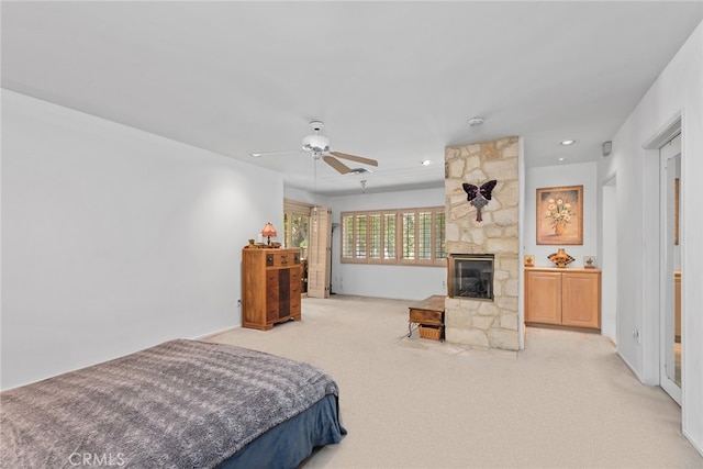
[[[583,244],[583,186],[537,189],[537,244]]]

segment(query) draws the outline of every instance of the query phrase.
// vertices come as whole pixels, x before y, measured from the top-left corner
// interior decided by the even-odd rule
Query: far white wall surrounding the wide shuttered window
[[[401,192],[364,193],[331,197],[333,223],[339,223],[341,212],[357,210],[444,206],[444,186]],[[332,236],[332,291],[377,298],[422,300],[431,294],[446,294],[446,267],[342,264],[339,261],[342,230]]]

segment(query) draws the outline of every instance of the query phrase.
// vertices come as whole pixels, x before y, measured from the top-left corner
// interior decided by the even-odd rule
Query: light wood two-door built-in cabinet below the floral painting
[[[601,328],[601,270],[525,269],[525,323]]]

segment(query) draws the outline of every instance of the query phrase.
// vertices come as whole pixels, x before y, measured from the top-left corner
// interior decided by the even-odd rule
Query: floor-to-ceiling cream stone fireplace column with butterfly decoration
[[[493,254],[494,301],[448,298],[447,342],[476,347],[520,348],[518,137],[445,147],[446,241],[448,254]],[[495,179],[492,199],[476,221],[462,183]]]

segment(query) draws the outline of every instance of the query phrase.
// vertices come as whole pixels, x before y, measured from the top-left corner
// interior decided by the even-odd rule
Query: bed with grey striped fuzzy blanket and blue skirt
[[[339,443],[322,370],[177,339],[0,393],[7,468],[295,468]]]

